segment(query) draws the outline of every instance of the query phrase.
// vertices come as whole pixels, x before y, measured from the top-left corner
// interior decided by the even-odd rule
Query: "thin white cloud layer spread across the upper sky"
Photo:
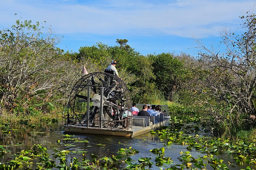
[[[96,3],[97,2],[97,3]],[[177,0],[163,1],[0,1],[0,26],[15,19],[46,21],[65,33],[127,34],[134,36],[177,35],[202,38],[218,36],[221,27],[240,22],[241,11],[254,1]],[[14,16],[17,13],[17,16]]]

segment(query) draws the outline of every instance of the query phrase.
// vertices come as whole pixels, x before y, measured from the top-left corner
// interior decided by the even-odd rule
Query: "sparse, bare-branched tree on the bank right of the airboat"
[[[223,29],[221,31],[223,53],[207,49],[201,40],[195,39],[201,50],[200,61],[207,65],[201,75],[202,100],[218,135],[234,135],[236,129],[249,128],[250,115],[255,115],[256,85],[256,17],[247,12],[241,16],[244,33]],[[245,123],[246,122],[246,123]]]

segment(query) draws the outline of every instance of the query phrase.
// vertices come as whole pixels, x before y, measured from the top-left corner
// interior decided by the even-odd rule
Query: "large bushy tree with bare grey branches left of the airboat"
[[[55,47],[59,38],[43,29],[39,22],[17,20],[0,31],[0,104],[14,113],[47,112],[51,102],[65,100],[67,80],[77,77],[70,69],[74,61],[64,60],[63,50]]]

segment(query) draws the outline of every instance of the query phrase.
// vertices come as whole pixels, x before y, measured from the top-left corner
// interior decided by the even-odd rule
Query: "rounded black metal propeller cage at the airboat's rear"
[[[109,73],[90,73],[72,88],[63,121],[84,128],[129,129],[131,107],[129,89],[121,79]]]

